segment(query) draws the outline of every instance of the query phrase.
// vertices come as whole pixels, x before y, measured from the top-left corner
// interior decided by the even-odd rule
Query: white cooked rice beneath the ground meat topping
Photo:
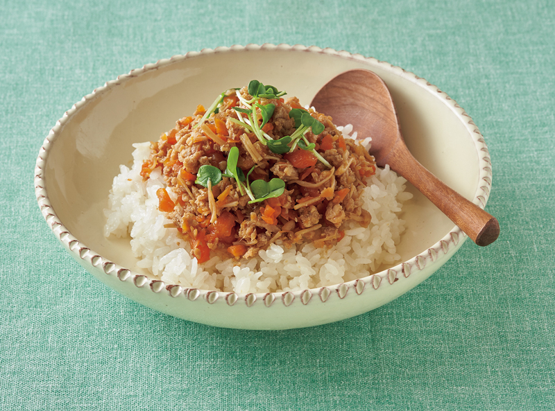
[[[343,136],[355,139],[352,126],[343,129]],[[368,144],[370,139],[362,142]],[[137,265],[148,269],[167,283],[186,288],[234,292],[277,292],[331,286],[366,277],[382,263],[400,260],[395,245],[400,241],[404,221],[398,218],[402,204],[411,193],[404,192],[406,180],[386,168],[378,168],[364,189],[364,209],[372,216],[367,228],[348,222],[345,236],[329,249],[311,243],[282,247],[278,243],[260,250],[257,258],[241,261],[222,260],[219,256],[198,265],[189,254],[189,242],[178,237],[175,228],[165,228],[171,220],[158,211],[157,189],[165,187],[160,168],[143,181],[143,162],[150,154],[150,143],[133,144],[133,167],[120,166],[114,177],[104,210],[107,222],[104,235],[130,235],[131,250],[139,259]],[[168,190],[172,200],[176,196]]]

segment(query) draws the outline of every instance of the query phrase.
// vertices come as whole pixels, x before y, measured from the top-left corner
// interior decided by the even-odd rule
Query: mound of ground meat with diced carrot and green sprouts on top
[[[141,175],[162,168],[176,198],[163,211],[200,263],[213,253],[249,258],[275,241],[331,246],[345,221],[370,222],[361,191],[373,157],[330,116],[282,94],[253,80],[151,145]]]

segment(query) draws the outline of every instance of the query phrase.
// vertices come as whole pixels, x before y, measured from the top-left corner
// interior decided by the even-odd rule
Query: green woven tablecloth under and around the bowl
[[[1,410],[554,410],[551,0],[0,1]],[[502,234],[335,324],[236,331],[135,304],[63,250],[35,202],[44,137],[105,81],[232,44],[345,49],[472,116]]]

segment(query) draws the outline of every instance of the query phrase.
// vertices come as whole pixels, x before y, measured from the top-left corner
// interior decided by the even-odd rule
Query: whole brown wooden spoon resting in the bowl
[[[384,80],[368,70],[352,70],[330,80],[311,105],[332,116],[336,124],[352,124],[359,136],[372,137],[370,154],[380,167],[389,164],[461,227],[477,245],[493,243],[499,222],[476,204],[450,189],[409,152],[404,143]]]

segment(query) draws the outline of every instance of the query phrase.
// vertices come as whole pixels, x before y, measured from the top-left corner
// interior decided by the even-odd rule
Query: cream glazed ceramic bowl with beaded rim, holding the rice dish
[[[205,49],[119,76],[67,111],[44,140],[35,168],[37,201],[69,254],[117,292],[185,320],[239,329],[315,326],[366,313],[424,281],[466,235],[410,184],[401,218],[400,263],[334,286],[261,294],[184,288],[137,267],[129,239],[103,236],[112,179],[130,166],[132,144],[153,141],[177,119],[210,105],[222,90],[252,79],[310,103],[327,81],[370,69],[391,90],[413,155],[484,208],[491,186],[488,149],[470,116],[445,93],[400,67],[345,51],[280,44]],[[189,113],[189,114],[188,114]]]

